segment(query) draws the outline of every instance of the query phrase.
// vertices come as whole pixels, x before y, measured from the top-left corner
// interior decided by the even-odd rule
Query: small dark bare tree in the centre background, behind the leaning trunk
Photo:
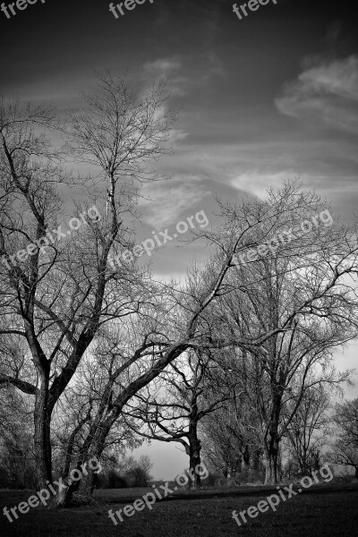
[[[218,379],[216,370],[217,364],[208,353],[189,350],[171,362],[155,384],[151,382],[141,390],[124,411],[143,423],[144,427],[134,428],[143,437],[184,447],[193,488],[200,487],[200,473],[196,470],[201,462],[200,422],[232,396],[230,390],[228,393],[223,389],[227,379]]]

